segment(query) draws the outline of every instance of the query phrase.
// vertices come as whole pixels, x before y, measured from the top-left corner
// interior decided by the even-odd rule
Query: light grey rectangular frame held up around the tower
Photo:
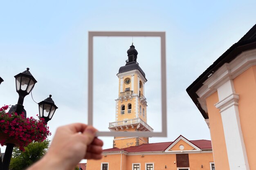
[[[162,132],[97,132],[97,136],[115,137],[167,137],[167,99],[166,99],[166,38],[165,32],[148,31],[89,31],[88,32],[88,125],[93,125],[93,38],[101,37],[159,37],[161,44],[161,97]],[[121,85],[121,84],[120,84]],[[139,86],[139,85],[138,85]],[[144,89],[144,88],[143,88]],[[120,89],[121,91],[122,89]]]

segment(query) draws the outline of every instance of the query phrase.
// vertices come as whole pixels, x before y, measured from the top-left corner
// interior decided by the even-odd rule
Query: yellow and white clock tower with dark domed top
[[[119,92],[116,101],[115,122],[110,131],[150,131],[147,124],[147,101],[144,93],[147,82],[144,71],[137,62],[138,52],[132,44],[127,51],[126,65],[119,68]],[[113,147],[126,148],[148,144],[148,137],[114,137]]]

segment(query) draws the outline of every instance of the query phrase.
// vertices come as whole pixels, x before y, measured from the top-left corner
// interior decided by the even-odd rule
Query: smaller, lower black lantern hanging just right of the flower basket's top
[[[47,99],[38,103],[39,106],[39,116],[40,118],[44,118],[45,122],[47,123],[49,120],[52,119],[55,110],[58,108],[54,101],[52,100],[52,95],[49,95]]]

